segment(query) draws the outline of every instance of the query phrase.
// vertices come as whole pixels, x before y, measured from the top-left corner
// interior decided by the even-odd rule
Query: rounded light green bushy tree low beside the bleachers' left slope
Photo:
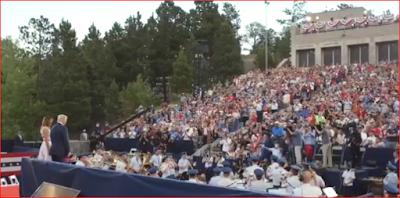
[[[140,105],[147,107],[154,104],[155,98],[149,84],[141,75],[138,75],[136,81],[128,83],[119,95],[119,101],[123,107],[121,113],[124,116],[132,115]]]

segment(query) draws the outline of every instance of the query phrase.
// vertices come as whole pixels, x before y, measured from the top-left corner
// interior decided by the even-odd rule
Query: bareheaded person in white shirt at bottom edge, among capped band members
[[[322,190],[319,187],[310,184],[313,173],[309,170],[303,170],[303,184],[293,190],[294,197],[320,197]]]

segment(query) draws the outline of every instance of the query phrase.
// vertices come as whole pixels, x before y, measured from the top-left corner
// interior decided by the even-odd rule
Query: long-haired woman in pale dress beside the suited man
[[[53,124],[53,118],[44,117],[42,120],[42,126],[40,127],[40,135],[42,136],[43,142],[40,145],[38,159],[51,161],[51,156],[49,154],[51,141],[50,141],[50,128]]]

